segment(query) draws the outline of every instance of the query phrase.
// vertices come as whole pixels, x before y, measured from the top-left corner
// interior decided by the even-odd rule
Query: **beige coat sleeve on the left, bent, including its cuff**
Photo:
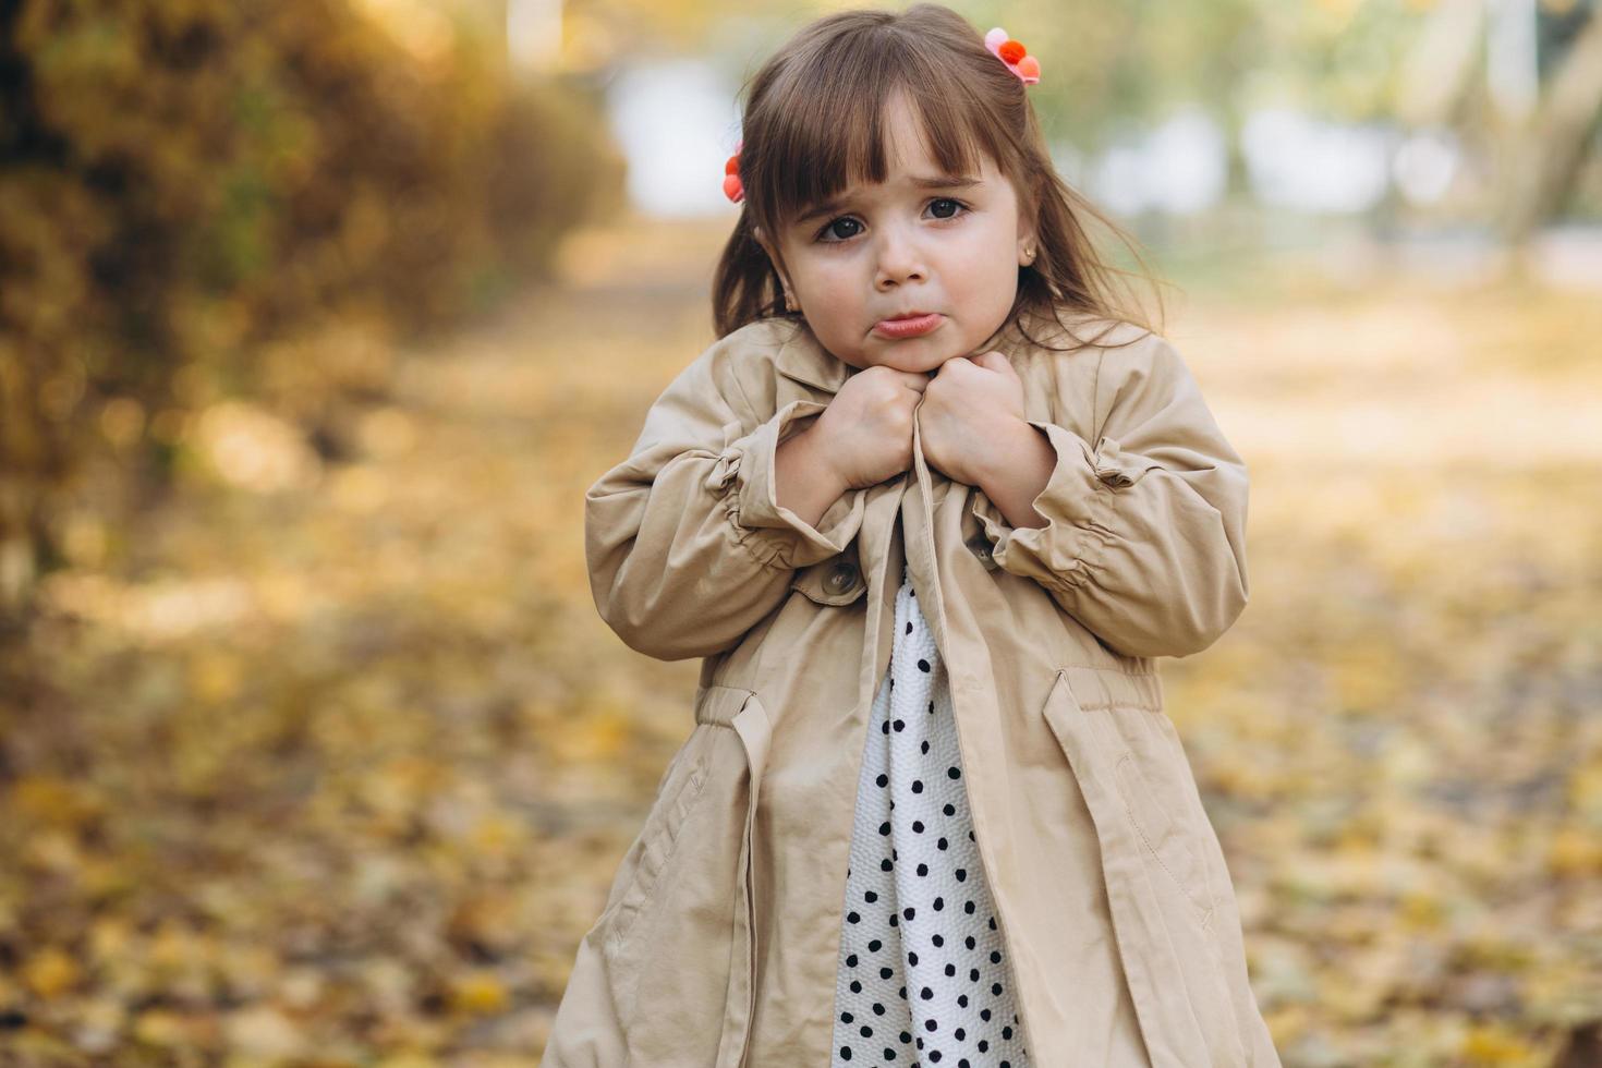
[[[828,405],[753,412],[731,335],[687,367],[646,415],[630,456],[585,493],[585,559],[596,607],[631,648],[657,660],[734,647],[785,599],[793,572],[843,552],[862,493],[811,527],[779,504],[774,455]]]

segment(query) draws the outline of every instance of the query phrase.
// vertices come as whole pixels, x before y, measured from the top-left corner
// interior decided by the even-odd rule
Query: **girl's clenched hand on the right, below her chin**
[[[940,365],[926,389],[918,429],[931,468],[982,488],[1043,444],[1024,418],[1022,379],[995,351]]]

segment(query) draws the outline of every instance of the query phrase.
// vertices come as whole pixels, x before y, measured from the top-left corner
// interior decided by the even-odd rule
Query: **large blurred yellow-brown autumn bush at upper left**
[[[22,0],[0,91],[13,623],[87,456],[120,453],[119,496],[159,490],[199,399],[272,389],[264,341],[460,320],[622,189],[582,90],[465,35],[420,58],[338,0]],[[322,352],[296,395],[383,389],[360,346]]]

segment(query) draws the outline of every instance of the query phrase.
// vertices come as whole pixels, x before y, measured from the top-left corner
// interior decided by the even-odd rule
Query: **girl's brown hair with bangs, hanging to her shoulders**
[[[897,91],[918,114],[940,167],[952,175],[979,173],[976,149],[982,151],[1017,187],[1025,211],[1033,211],[1040,250],[1030,266],[1019,267],[1008,322],[1017,323],[1027,311],[1057,319],[1067,330],[1057,317],[1067,309],[1115,320],[1113,327],[1125,320],[1152,330],[1133,301],[1115,296],[1112,275],[1133,272],[1097,256],[1081,216],[1118,235],[1144,267],[1136,242],[1062,181],[1024,82],[950,8],[916,3],[900,13],[825,16],[791,37],[748,88],[740,149],[745,200],[713,277],[718,336],[758,319],[801,315],[785,309],[780,275],[755,229],[777,235],[787,221],[847,184],[884,181],[883,109]],[[779,255],[777,240],[769,243]]]

